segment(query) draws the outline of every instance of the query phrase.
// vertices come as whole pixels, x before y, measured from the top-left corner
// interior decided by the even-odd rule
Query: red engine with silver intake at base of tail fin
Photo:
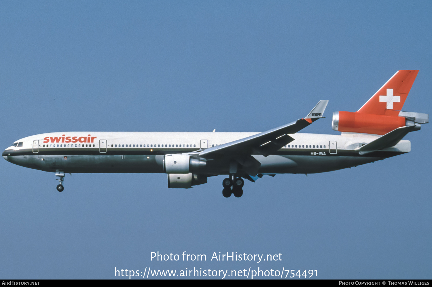
[[[401,126],[416,126],[429,123],[428,114],[399,112],[397,116],[365,114],[359,112],[333,112],[331,128],[339,132],[360,132],[384,135]]]

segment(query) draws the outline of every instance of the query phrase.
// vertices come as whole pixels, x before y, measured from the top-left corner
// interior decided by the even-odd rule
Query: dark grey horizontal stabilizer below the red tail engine
[[[397,145],[404,136],[407,135],[408,132],[412,132],[414,130],[418,130],[418,126],[402,126],[397,129],[392,130],[391,132],[386,133],[384,136],[380,136],[378,139],[369,142],[362,147],[356,148],[356,151],[359,151],[360,155],[368,154],[372,151],[378,151],[384,148],[390,148],[392,146]]]

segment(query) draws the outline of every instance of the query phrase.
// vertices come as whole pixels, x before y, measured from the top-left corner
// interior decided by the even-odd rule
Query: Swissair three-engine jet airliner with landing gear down
[[[322,173],[411,151],[402,140],[429,123],[429,115],[401,111],[418,70],[394,74],[358,111],[333,113],[341,135],[299,133],[324,115],[321,100],[304,118],[265,132],[50,132],[6,148],[6,161],[65,173],[166,173],[168,188],[191,188],[228,175],[222,195],[241,197],[247,179],[264,175]]]

